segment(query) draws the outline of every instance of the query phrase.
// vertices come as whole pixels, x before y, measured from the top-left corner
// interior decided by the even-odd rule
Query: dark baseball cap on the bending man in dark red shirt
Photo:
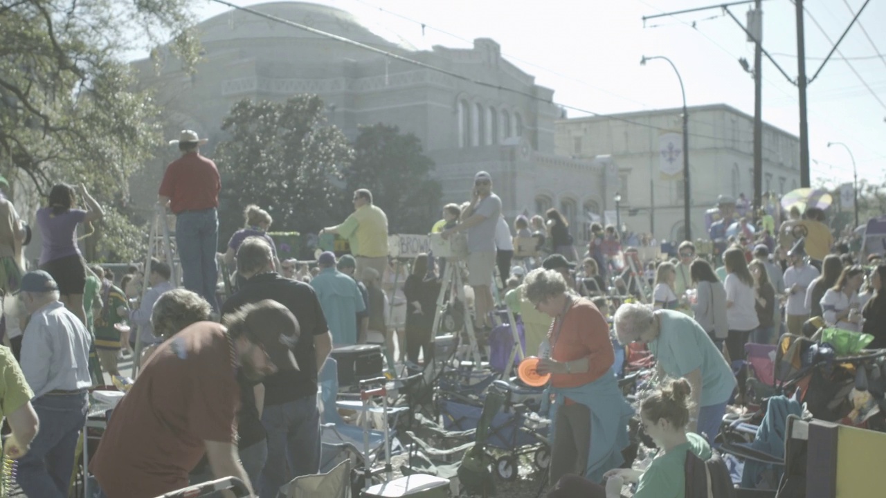
[[[250,305],[247,305],[250,306]],[[260,300],[245,310],[244,325],[277,370],[299,370],[292,350],[299,342],[299,320],[275,300]]]

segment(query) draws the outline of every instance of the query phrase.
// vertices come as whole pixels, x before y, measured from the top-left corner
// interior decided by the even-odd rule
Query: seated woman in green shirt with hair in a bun
[[[620,498],[626,484],[639,483],[633,498],[683,498],[686,495],[686,452],[702,460],[711,458],[711,447],[703,437],[686,432],[689,423],[689,393],[685,378],[666,382],[641,403],[643,429],[659,448],[644,471],[614,469],[603,474],[605,489],[579,476],[564,476],[548,498]]]

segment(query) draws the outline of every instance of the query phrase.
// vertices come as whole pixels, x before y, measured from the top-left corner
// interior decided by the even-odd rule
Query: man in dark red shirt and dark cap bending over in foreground
[[[289,309],[261,300],[225,315],[224,325],[193,323],[160,345],[89,462],[103,496],[153,498],[188,486],[204,454],[216,479],[237,477],[252,493],[237,451],[237,376],[254,382],[298,370],[299,335]]]

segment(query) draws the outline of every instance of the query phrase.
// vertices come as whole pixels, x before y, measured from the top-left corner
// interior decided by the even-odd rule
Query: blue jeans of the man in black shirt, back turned
[[[317,397],[266,405],[261,424],[268,432],[268,462],[261,472],[260,498],[276,498],[280,486],[320,471],[320,412]]]

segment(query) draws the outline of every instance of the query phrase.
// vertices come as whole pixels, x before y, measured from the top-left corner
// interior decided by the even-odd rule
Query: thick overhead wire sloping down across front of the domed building
[[[503,85],[495,84],[495,83],[482,82],[482,81],[479,81],[479,80],[476,80],[476,79],[470,78],[470,77],[468,77],[468,76],[465,76],[465,75],[463,75],[463,74],[455,73],[455,71],[450,71],[450,70],[448,70],[448,69],[444,69],[444,68],[442,68],[442,67],[433,66],[433,65],[428,64],[428,63],[425,63],[425,62],[421,62],[421,61],[418,61],[418,60],[415,60],[415,59],[412,59],[412,58],[408,58],[408,57],[402,56],[402,55],[397,54],[397,53],[394,53],[394,52],[392,52],[392,51],[386,51],[386,50],[384,50],[384,49],[379,49],[379,48],[377,48],[377,47],[373,47],[373,46],[371,46],[371,45],[367,45],[366,43],[360,43],[360,42],[357,42],[357,41],[352,40],[352,39],[350,39],[350,38],[346,38],[345,36],[340,36],[340,35],[335,35],[335,34],[332,34],[332,33],[328,33],[328,32],[326,32],[326,31],[323,31],[323,30],[317,29],[317,28],[315,28],[315,27],[309,27],[309,26],[306,26],[306,25],[300,24],[300,23],[298,23],[298,22],[291,21],[291,20],[289,20],[289,19],[283,19],[283,18],[277,17],[277,16],[272,15],[272,14],[268,14],[268,13],[265,13],[265,12],[256,11],[256,10],[254,10],[254,9],[252,9],[252,8],[249,8],[249,7],[244,7],[244,6],[240,6],[240,5],[236,5],[236,4],[231,4],[231,3],[228,2],[227,0],[211,0],[211,1],[215,2],[216,4],[227,5],[227,6],[229,6],[230,8],[232,8],[232,9],[236,9],[236,10],[238,10],[238,11],[249,12],[249,13],[251,13],[251,14],[253,14],[253,15],[256,15],[256,16],[259,16],[259,17],[261,17],[261,18],[268,19],[268,20],[271,20],[271,21],[274,21],[274,22],[278,22],[278,23],[281,23],[281,24],[284,24],[284,25],[287,25],[287,26],[290,26],[290,27],[296,27],[296,28],[298,28],[298,29],[301,29],[301,30],[307,31],[308,33],[312,33],[312,34],[314,34],[314,35],[319,35],[319,36],[323,36],[323,37],[326,37],[326,38],[330,38],[330,39],[332,39],[332,40],[336,40],[336,41],[341,42],[341,43],[346,43],[346,44],[352,45],[352,46],[354,46],[354,47],[361,48],[361,49],[366,50],[366,51],[372,51],[372,52],[375,52],[375,53],[377,53],[377,54],[384,55],[385,57],[392,58],[392,59],[395,59],[395,60],[399,60],[400,62],[404,62],[404,63],[407,63],[407,64],[411,64],[411,65],[414,65],[414,66],[423,67],[424,69],[427,69],[427,70],[430,70],[430,71],[435,71],[435,72],[438,72],[438,73],[440,73],[440,74],[446,74],[447,76],[450,76],[450,77],[455,78],[456,80],[459,80],[459,81],[462,81],[462,82],[470,82],[470,83],[472,83],[472,84],[475,84],[475,85],[478,85],[478,86],[481,86],[481,87],[485,87],[485,88],[489,88],[489,89],[495,89],[495,90],[498,90],[498,91],[504,91],[504,92],[513,93],[513,94],[519,95],[519,96],[521,96],[521,97],[526,97],[526,98],[529,98],[529,99],[531,99],[531,100],[535,100],[535,101],[538,101],[538,102],[541,102],[541,103],[544,103],[544,104],[560,106],[560,107],[563,107],[563,108],[565,108],[565,109],[571,109],[571,110],[576,111],[576,112],[579,112],[579,113],[590,114],[591,116],[594,116],[594,117],[606,118],[606,119],[610,119],[610,120],[613,120],[613,121],[621,121],[621,122],[625,122],[625,123],[632,124],[632,125],[639,126],[639,127],[643,127],[643,128],[652,128],[652,129],[657,129],[657,130],[659,130],[659,131],[671,131],[671,129],[672,129],[672,128],[664,128],[664,127],[659,127],[659,126],[656,126],[656,125],[647,124],[647,123],[644,123],[644,122],[641,122],[641,121],[631,121],[631,120],[628,120],[628,119],[626,119],[626,118],[621,118],[621,117],[619,117],[618,115],[614,115],[614,114],[595,113],[594,111],[588,111],[587,109],[583,109],[583,108],[581,108],[581,107],[577,107],[577,106],[574,106],[574,105],[557,104],[557,103],[554,102],[553,100],[548,100],[548,99],[546,99],[546,98],[541,98],[541,97],[538,97],[538,96],[532,95],[531,93],[527,93],[527,92],[525,92],[525,91],[523,91],[523,90],[519,90],[519,89],[511,89],[511,88],[505,87],[505,86],[503,86]],[[690,117],[690,119],[691,119],[691,117]],[[688,133],[688,136],[695,136],[696,138],[708,138],[708,139],[711,139],[711,140],[724,140],[724,141],[727,140],[725,137],[722,137],[722,136],[707,136],[707,135],[701,135],[701,134],[696,134],[696,133]],[[734,141],[734,142],[744,142],[745,144],[747,144],[747,143],[752,143],[752,142],[750,142],[750,141]]]

